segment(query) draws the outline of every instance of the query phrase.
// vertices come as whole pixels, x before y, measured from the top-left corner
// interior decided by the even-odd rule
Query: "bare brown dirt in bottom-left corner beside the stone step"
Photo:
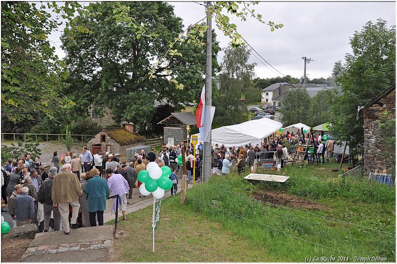
[[[19,262],[31,238],[1,239],[1,262]]]

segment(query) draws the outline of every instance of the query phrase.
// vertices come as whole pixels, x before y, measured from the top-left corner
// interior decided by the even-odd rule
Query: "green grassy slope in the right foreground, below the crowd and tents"
[[[344,180],[331,171],[336,167],[287,166],[280,173],[291,178],[283,185],[214,176],[187,192],[185,206],[180,196],[163,201],[154,254],[153,208],[128,214],[119,225],[126,237],[116,242],[114,261],[307,262],[334,256],[353,262],[381,256],[395,262],[395,189]]]

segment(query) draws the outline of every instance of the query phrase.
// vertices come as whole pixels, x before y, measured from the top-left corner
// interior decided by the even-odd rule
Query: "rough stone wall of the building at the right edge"
[[[396,90],[364,111],[364,175],[374,172],[375,169],[383,171],[392,167],[391,159],[382,155],[385,151],[385,145],[381,138],[383,135],[381,135],[376,123],[380,113],[384,111],[390,113],[391,119],[396,118]]]

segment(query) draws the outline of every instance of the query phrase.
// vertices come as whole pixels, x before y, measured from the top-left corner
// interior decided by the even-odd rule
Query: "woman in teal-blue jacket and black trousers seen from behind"
[[[94,175],[85,184],[85,197],[87,198],[87,211],[89,214],[89,223],[91,226],[103,226],[103,211],[106,208],[106,199],[109,197],[110,190],[107,181],[99,176],[98,169],[92,169],[91,175]]]

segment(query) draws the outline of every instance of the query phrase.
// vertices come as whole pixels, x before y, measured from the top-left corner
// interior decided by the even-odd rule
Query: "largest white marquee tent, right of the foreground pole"
[[[248,145],[248,142],[251,142],[253,146],[256,144],[261,145],[264,138],[276,133],[281,127],[282,124],[280,122],[266,117],[236,125],[222,126],[212,129],[212,144],[214,146],[219,144],[219,147],[225,144],[226,148],[245,146]],[[200,134],[198,133],[194,136],[198,136],[199,143]]]

